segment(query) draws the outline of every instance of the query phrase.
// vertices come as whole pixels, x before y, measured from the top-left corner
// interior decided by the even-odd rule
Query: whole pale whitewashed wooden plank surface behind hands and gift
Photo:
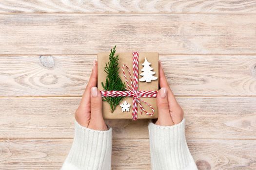
[[[256,0],[1,0],[0,170],[57,170],[93,60],[158,51],[199,170],[256,170]],[[107,120],[113,170],[150,170],[149,120]]]

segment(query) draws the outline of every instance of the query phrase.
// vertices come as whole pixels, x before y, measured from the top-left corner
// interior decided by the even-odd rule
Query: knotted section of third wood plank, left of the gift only
[[[81,96],[94,56],[0,56],[0,96]]]

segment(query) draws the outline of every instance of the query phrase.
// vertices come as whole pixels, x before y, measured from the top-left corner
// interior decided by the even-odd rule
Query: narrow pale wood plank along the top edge
[[[255,0],[1,0],[6,13],[255,13]]]

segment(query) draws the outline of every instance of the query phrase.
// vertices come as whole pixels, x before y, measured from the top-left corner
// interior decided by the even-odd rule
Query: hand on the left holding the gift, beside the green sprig
[[[108,130],[102,117],[102,99],[97,88],[97,61],[94,62],[89,82],[84,90],[81,102],[75,113],[77,122],[93,130]]]

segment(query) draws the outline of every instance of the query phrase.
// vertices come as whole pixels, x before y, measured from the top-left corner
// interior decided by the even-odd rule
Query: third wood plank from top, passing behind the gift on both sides
[[[0,96],[81,96],[96,55],[0,56]],[[160,55],[177,96],[256,96],[256,56]]]

